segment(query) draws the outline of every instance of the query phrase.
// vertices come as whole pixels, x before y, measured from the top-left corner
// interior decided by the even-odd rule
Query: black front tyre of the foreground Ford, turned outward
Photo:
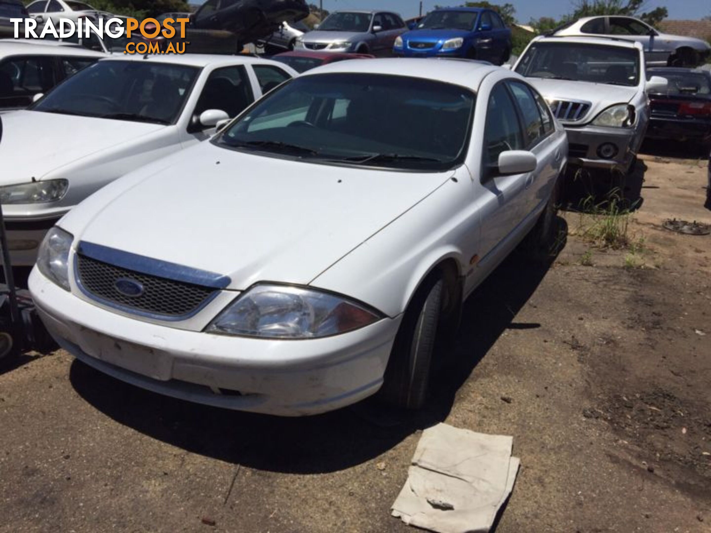
[[[419,409],[427,399],[443,286],[441,276],[429,276],[405,311],[380,390],[380,397],[387,404]]]

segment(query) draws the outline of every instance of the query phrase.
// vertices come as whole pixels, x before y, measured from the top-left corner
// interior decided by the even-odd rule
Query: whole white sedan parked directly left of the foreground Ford
[[[3,114],[0,202],[13,264],[34,264],[47,230],[88,195],[209,139],[218,121],[295,75],[244,55],[122,55]]]

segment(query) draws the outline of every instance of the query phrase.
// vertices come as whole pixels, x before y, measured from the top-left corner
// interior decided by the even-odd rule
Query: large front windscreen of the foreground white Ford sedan
[[[296,77],[217,144],[306,161],[444,171],[459,166],[475,95],[436,80],[368,73]]]

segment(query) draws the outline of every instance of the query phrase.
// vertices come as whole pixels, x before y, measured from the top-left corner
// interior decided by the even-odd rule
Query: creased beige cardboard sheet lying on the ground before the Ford
[[[512,446],[447,424],[424,430],[392,515],[437,533],[488,532],[518,473]]]

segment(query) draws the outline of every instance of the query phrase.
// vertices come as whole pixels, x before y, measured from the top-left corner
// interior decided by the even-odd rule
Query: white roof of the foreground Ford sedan
[[[491,72],[504,70],[484,61],[451,60],[439,58],[380,58],[368,61],[338,61],[322,67],[308,70],[301,76],[334,74],[336,72],[354,74],[384,74],[407,77],[420,77],[453,85],[464,85],[476,90],[481,81]],[[520,77],[515,72],[511,77]],[[523,80],[523,77],[521,77]]]

